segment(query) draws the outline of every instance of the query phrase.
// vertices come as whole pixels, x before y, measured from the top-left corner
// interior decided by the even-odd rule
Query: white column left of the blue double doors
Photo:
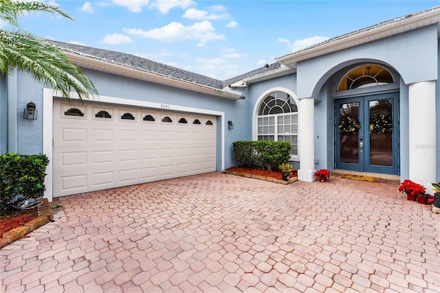
[[[298,180],[315,181],[315,144],[314,144],[314,98],[300,99],[299,113],[299,155],[300,169]]]

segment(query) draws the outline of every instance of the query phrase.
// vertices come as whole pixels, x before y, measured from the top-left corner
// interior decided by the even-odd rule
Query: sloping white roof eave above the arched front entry
[[[417,14],[410,14],[393,21],[373,25],[357,32],[344,34],[298,52],[275,58],[275,60],[283,65],[296,69],[296,64],[300,61],[401,34],[402,32],[423,28],[435,23],[437,23],[437,25],[440,23],[440,6]]]

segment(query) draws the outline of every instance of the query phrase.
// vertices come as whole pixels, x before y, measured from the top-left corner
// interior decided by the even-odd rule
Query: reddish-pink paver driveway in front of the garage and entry
[[[0,292],[440,292],[440,215],[398,182],[209,173],[62,197]]]

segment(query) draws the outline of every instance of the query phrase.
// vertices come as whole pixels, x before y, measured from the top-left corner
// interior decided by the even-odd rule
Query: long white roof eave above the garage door
[[[109,74],[115,74],[118,76],[125,76],[129,78],[135,78],[137,80],[144,80],[150,83],[156,83],[159,85],[166,85],[168,87],[176,87],[178,89],[185,89],[188,91],[196,91],[201,94],[208,94],[210,96],[217,96],[221,98],[228,98],[232,100],[243,99],[241,93],[237,92],[225,92],[222,89],[210,87],[208,85],[200,85],[195,82],[175,78],[174,76],[166,76],[159,72],[149,71],[147,69],[133,67],[122,63],[116,63],[114,61],[104,60],[94,56],[86,54],[80,54],[78,52],[72,52],[70,50],[63,50],[65,55],[78,67],[91,69],[98,72],[105,72]]]

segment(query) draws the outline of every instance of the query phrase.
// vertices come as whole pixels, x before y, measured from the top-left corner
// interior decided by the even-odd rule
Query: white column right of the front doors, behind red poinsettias
[[[428,193],[436,179],[435,81],[408,87],[409,179],[425,186]],[[432,193],[432,192],[431,192]]]

